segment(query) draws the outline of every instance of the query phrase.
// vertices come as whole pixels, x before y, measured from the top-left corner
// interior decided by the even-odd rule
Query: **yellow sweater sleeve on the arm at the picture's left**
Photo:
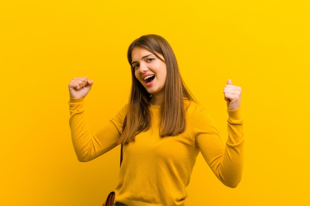
[[[117,146],[125,117],[125,108],[104,124],[98,132],[92,134],[85,117],[84,99],[70,98],[68,104],[72,143],[80,162],[91,161]]]

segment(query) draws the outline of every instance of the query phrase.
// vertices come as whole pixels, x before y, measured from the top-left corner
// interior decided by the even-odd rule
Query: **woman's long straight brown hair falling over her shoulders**
[[[174,136],[182,133],[186,128],[186,112],[184,98],[195,101],[187,89],[179,73],[175,54],[164,38],[158,35],[145,35],[133,41],[128,48],[127,58],[131,66],[131,95],[127,111],[127,124],[119,139],[119,143],[135,141],[135,136],[146,131],[151,125],[151,112],[149,109],[151,94],[135,77],[132,66],[131,53],[135,47],[147,49],[158,56],[161,54],[166,63],[167,77],[164,86],[164,100],[160,105],[159,134],[161,137]]]

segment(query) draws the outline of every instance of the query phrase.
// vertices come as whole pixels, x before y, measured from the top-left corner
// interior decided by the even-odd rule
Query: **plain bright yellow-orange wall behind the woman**
[[[309,205],[308,0],[2,0],[0,205],[102,205],[119,147],[77,161],[67,84],[95,81],[86,104],[96,131],[128,101],[128,45],[151,33],[171,43],[224,140],[222,88],[228,78],[243,88],[243,179],[226,188],[199,156],[187,205]]]

